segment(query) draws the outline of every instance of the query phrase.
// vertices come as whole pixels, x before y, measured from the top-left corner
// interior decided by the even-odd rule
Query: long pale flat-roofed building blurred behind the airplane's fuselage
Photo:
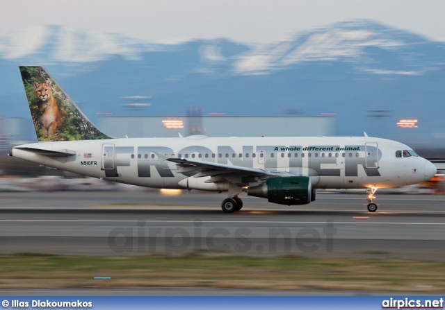
[[[106,116],[100,130],[111,137],[316,137],[335,135],[334,117],[302,116]]]

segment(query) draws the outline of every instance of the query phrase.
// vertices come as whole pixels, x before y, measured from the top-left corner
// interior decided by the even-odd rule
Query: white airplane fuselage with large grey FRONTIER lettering
[[[72,156],[52,157],[23,148],[69,150]],[[44,166],[144,187],[221,191],[210,177],[179,173],[165,158],[182,157],[229,166],[254,168],[277,176],[305,175],[316,189],[398,187],[432,178],[436,169],[405,144],[371,137],[252,137],[108,139],[57,141],[13,148],[13,156]],[[185,179],[191,182],[184,182]],[[261,183],[248,174],[230,180],[239,187]]]

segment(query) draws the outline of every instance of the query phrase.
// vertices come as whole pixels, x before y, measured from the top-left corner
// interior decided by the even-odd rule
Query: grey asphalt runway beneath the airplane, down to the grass
[[[0,254],[252,255],[445,261],[445,196],[320,193],[309,205],[185,191],[0,193]]]

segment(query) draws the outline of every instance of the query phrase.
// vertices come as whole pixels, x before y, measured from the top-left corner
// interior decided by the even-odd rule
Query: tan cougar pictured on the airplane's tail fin
[[[51,90],[51,80],[47,80],[46,83],[34,82],[35,96],[39,100],[39,110],[42,112],[40,116],[40,122],[44,137],[53,137],[56,135],[56,129],[60,121],[67,114],[65,111],[60,110],[56,99],[53,96]]]

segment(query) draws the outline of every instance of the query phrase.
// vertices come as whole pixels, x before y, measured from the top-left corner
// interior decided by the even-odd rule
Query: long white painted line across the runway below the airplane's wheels
[[[19,223],[19,222],[25,222],[25,223],[138,223],[140,220],[0,220],[0,222],[3,223]],[[193,221],[144,221],[144,223],[190,223],[194,224],[195,220]],[[200,221],[201,223],[216,223],[216,224],[223,224],[223,223],[229,223],[229,224],[235,224],[235,223],[243,223],[243,224],[326,224],[330,223],[330,221],[310,221],[310,222],[303,222],[303,221],[283,221],[283,222],[277,222],[277,221]],[[366,224],[378,224],[378,225],[445,225],[445,223],[410,223],[410,222],[400,222],[400,223],[394,223],[394,222],[336,222],[332,221],[332,223],[335,224],[359,224],[359,225],[366,225]]]

